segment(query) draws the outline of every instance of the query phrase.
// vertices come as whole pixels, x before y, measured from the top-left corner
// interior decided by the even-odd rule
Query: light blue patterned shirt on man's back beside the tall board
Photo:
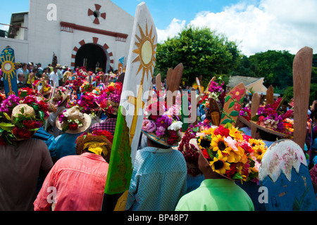
[[[172,148],[137,151],[126,209],[170,211],[186,193],[187,167],[182,153]]]

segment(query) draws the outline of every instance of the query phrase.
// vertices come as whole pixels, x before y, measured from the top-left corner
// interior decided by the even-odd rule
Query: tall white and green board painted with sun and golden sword
[[[124,210],[133,163],[139,144],[143,109],[147,102],[156,60],[157,34],[149,8],[142,2],[135,12],[135,23],[125,71],[116,130],[111,148],[108,176],[101,210]],[[120,198],[120,203],[117,203]],[[115,204],[113,204],[115,203]]]

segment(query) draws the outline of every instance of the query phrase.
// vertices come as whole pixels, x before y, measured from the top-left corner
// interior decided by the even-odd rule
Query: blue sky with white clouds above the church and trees
[[[66,0],[68,1],[68,0]],[[85,0],[90,1],[90,0]],[[112,0],[135,15],[142,0]],[[238,44],[247,56],[268,50],[309,46],[317,53],[316,0],[144,0],[156,24],[158,41],[175,37],[186,25],[209,27]],[[51,0],[54,3],[54,0]],[[11,13],[29,11],[28,0],[1,1],[0,23]],[[1,27],[0,29],[3,29]]]

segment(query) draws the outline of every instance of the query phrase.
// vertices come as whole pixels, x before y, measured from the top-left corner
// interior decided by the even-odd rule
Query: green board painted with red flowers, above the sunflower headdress
[[[243,83],[237,84],[225,96],[225,105],[221,114],[220,124],[225,125],[228,122],[235,125],[237,117],[242,107],[243,98],[245,96],[245,86]]]

